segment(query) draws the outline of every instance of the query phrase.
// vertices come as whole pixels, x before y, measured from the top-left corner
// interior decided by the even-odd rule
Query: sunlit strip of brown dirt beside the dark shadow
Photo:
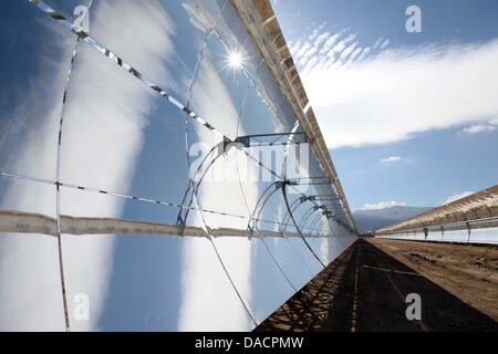
[[[377,238],[369,241],[498,321],[498,247]]]

